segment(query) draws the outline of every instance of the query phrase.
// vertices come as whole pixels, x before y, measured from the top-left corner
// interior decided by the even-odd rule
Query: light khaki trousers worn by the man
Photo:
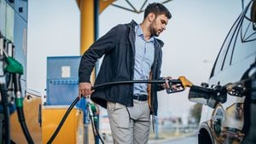
[[[148,101],[133,101],[133,107],[108,101],[108,117],[114,144],[146,144],[150,131]]]

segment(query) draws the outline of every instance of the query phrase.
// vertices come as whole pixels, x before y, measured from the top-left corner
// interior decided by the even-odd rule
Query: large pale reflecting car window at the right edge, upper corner
[[[256,4],[253,2],[246,8],[246,13],[239,29],[240,36],[236,39],[232,64],[256,53],[255,7]]]

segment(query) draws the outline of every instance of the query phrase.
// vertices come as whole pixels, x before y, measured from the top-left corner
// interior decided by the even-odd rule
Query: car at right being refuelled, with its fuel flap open
[[[256,1],[242,2],[208,83],[189,89],[189,101],[203,104],[199,144],[256,143]]]

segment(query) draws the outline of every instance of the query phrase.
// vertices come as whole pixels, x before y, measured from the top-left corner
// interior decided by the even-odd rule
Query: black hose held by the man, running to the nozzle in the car
[[[169,82],[172,82],[172,84],[180,84],[181,81],[178,79],[172,79],[169,80]],[[98,89],[101,87],[106,87],[106,86],[110,86],[110,85],[117,85],[117,84],[164,84],[166,83],[165,79],[160,79],[160,80],[132,80],[132,81],[119,81],[119,82],[110,82],[110,83],[105,83],[105,84],[98,84],[95,85],[93,87],[91,87],[91,89]],[[47,142],[47,144],[51,144],[54,140],[55,140],[55,136],[58,135],[58,133],[61,130],[62,125],[64,124],[64,122],[67,119],[67,116],[69,115],[69,113],[71,112],[71,110],[73,109],[73,107],[77,104],[77,102],[80,100],[79,96],[75,99],[75,101],[73,101],[73,103],[70,105],[70,107],[68,107],[65,115],[63,116],[63,118],[61,119],[61,123],[58,125],[57,129],[55,130],[54,134],[50,137],[49,141]]]

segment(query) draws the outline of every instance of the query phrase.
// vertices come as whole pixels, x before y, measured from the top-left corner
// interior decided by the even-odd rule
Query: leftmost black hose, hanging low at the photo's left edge
[[[9,107],[8,107],[6,84],[0,84],[0,90],[2,95],[3,118],[4,118],[4,143],[10,144]]]

